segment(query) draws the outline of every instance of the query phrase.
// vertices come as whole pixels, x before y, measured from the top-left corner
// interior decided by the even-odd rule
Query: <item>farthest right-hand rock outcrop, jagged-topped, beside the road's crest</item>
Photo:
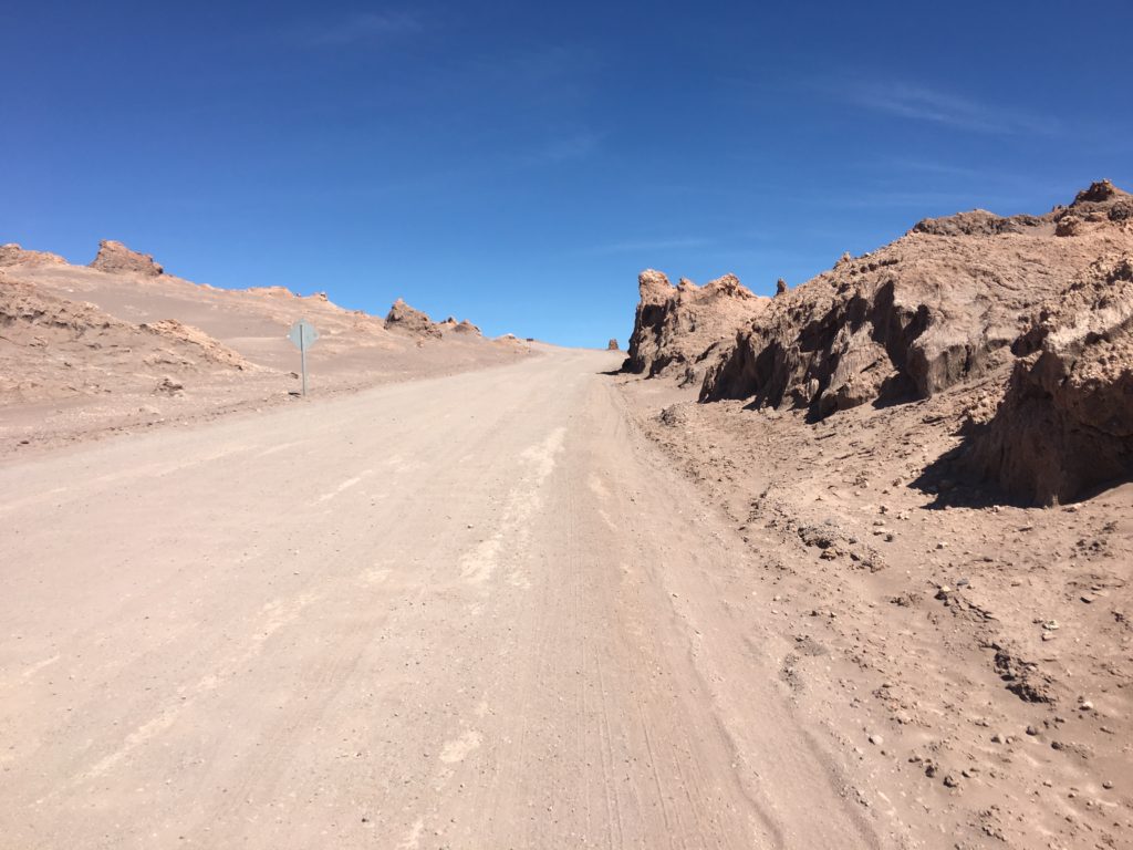
[[[662,272],[638,275],[641,298],[633,320],[623,371],[648,376],[680,372],[698,380],[709,349],[763,313],[770,298],[746,289],[734,274],[698,287],[681,279],[676,287]]]

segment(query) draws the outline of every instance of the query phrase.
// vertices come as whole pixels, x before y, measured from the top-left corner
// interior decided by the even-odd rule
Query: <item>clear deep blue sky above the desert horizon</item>
[[[1133,187],[1133,3],[6,2],[0,241],[623,343],[917,220]]]

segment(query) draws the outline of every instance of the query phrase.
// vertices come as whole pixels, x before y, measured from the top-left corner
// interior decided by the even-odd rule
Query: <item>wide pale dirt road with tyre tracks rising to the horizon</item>
[[[883,843],[616,363],[0,468],[0,845]]]

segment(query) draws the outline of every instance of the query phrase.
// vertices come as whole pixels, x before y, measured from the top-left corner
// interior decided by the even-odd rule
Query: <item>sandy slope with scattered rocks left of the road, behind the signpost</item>
[[[287,339],[299,318],[321,334],[308,355],[316,396],[530,354],[455,324],[428,338],[391,332],[377,316],[280,287],[215,289],[39,256],[0,263],[0,457],[286,403],[300,385]]]

